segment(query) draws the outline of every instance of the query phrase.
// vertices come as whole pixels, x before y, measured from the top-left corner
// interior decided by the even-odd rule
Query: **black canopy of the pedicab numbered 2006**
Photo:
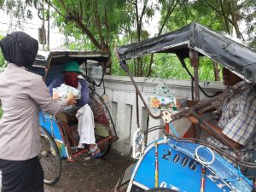
[[[256,53],[219,32],[195,22],[155,38],[137,44],[117,48],[121,61],[152,53],[174,53],[189,58],[189,49],[199,56],[208,56],[231,71],[250,81],[256,81]]]

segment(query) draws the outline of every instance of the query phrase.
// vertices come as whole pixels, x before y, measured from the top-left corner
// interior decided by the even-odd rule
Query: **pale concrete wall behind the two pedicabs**
[[[92,79],[99,83],[101,76],[94,75]],[[172,94],[182,97],[191,97],[189,80],[167,80],[167,79],[155,79],[155,78],[135,78],[139,90],[143,94],[143,98],[148,102],[148,96],[150,96],[154,90],[154,87],[160,82],[166,83]],[[137,130],[137,109],[136,109],[136,96],[135,88],[131,83],[129,77],[121,76],[105,76],[105,92],[108,95],[108,109],[110,110],[114,124],[116,125],[117,135],[119,140],[113,143],[113,148],[121,152],[121,154],[127,154],[131,148],[131,141],[134,131]],[[224,86],[221,82],[204,82],[201,83],[201,87],[209,94],[213,94],[217,90],[222,90]],[[96,88],[96,91],[102,95],[102,86]],[[202,99],[203,97],[201,93]],[[152,113],[160,114],[160,110],[151,108]],[[140,126],[142,130],[146,130],[147,127],[153,127],[154,125],[164,125],[162,119],[148,118],[148,112],[143,106],[143,102],[139,102],[139,118]],[[154,131],[148,134],[148,143],[151,143],[154,139],[161,137],[160,131]]]

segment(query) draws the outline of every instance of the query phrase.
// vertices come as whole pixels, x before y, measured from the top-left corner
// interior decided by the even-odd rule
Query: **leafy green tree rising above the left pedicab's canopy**
[[[127,17],[122,11],[123,0],[26,0],[3,1],[2,8],[7,13],[15,13],[16,18],[31,18],[29,8],[38,10],[49,3],[54,10],[55,25],[68,36],[90,42],[90,48],[102,52],[111,52],[109,44],[117,38],[121,29],[125,28]],[[43,13],[46,14],[43,10]],[[108,61],[110,69],[111,60]]]

